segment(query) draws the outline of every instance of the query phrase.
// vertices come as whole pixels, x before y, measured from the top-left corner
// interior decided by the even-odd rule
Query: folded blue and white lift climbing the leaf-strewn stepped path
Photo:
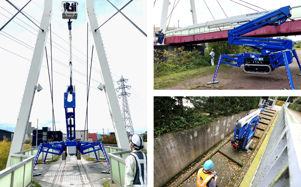
[[[255,112],[248,114],[246,117],[243,117],[240,120],[237,119],[234,137],[231,138],[231,144],[235,150],[237,150],[238,147],[241,147],[246,153],[250,151],[249,148],[254,141],[253,136],[257,129],[259,119],[262,118],[258,117],[258,115],[262,113],[265,108],[266,102],[263,103],[262,108],[257,109]]]

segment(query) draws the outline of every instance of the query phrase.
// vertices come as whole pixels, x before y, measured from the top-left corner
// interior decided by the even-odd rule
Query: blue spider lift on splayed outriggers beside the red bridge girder
[[[285,66],[290,89],[294,89],[293,80],[289,70],[289,64],[293,62],[293,57],[295,57],[300,71],[301,66],[296,50],[292,50],[294,46],[294,42],[292,40],[240,37],[243,34],[260,29],[264,26],[280,26],[290,17],[291,7],[286,6],[247,22],[232,30],[228,30],[229,44],[250,46],[261,54],[244,52],[238,55],[220,55],[213,81],[208,82],[207,84],[218,83],[218,81],[215,81],[215,78],[220,67],[220,63],[222,62],[237,67],[240,67],[243,64],[244,72],[254,74],[268,74],[277,67]],[[233,60],[234,63],[226,62],[223,59]],[[297,75],[301,75],[301,73]]]

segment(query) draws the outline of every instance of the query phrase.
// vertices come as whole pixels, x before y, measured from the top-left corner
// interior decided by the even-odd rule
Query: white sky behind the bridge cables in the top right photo
[[[248,6],[250,8],[253,8],[257,11],[263,11],[264,8],[266,10],[272,10],[272,9],[278,9],[281,7],[285,6],[297,6],[301,5],[300,0],[290,0],[290,1],[280,1],[280,0],[274,0],[274,1],[262,1],[262,0],[243,0],[244,2],[240,0],[234,0],[235,2],[238,2],[240,4],[243,4],[245,6]],[[174,8],[174,11],[171,15],[171,19],[169,22],[169,18],[167,19],[166,25],[168,25],[169,22],[169,27],[178,27],[178,20],[179,20],[179,27],[185,27],[188,25],[192,25],[192,15],[190,12],[190,1],[189,0],[170,0],[170,5],[168,7],[168,14],[171,13],[174,4],[177,4],[177,6]],[[175,2],[175,3],[174,3]],[[250,8],[244,7],[242,5],[239,5],[235,2],[232,2],[230,0],[218,0],[220,3],[221,7],[225,11],[220,8],[220,5],[216,0],[205,0],[207,6],[210,8],[211,13],[213,14],[215,20],[218,19],[223,19],[227,18],[225,16],[225,13],[228,17],[231,16],[238,16],[238,15],[243,15],[246,13],[253,13],[257,12],[255,10],[252,10]],[[213,21],[213,17],[211,16],[211,13],[209,12],[208,8],[206,7],[204,0],[195,0],[195,7],[196,7],[196,14],[197,14],[197,23],[205,23],[207,21]],[[258,6],[254,7],[250,4],[247,4],[245,2],[248,2],[252,5]],[[155,1],[155,7],[154,7],[154,18],[153,18],[153,24],[152,26],[155,25],[155,27],[160,27],[160,21],[161,21],[161,13],[162,13],[162,5],[163,5],[163,0],[156,0]],[[301,36],[289,36],[289,39],[293,41],[301,40]]]

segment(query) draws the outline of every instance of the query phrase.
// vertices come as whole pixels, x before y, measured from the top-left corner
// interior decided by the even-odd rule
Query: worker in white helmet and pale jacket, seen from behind
[[[132,153],[125,159],[124,187],[147,186],[147,155],[141,152],[143,140],[140,135],[130,137]]]

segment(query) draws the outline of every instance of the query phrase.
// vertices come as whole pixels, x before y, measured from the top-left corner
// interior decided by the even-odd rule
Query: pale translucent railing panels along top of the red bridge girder
[[[200,23],[196,25],[186,26],[179,29],[173,29],[169,31],[165,31],[165,37],[169,36],[188,36],[188,35],[194,35],[194,34],[201,34],[206,32],[213,32],[213,31],[222,31],[222,30],[229,30],[233,29],[235,27],[238,27],[240,25],[243,25],[246,22],[252,21],[258,17],[261,17],[262,15],[275,11],[274,10],[268,10],[268,11],[262,11],[262,12],[254,12],[250,14],[243,14],[239,16],[233,16],[225,19],[215,20],[215,21],[209,21],[206,23]],[[301,5],[292,7],[292,16],[291,19],[298,20],[301,19]]]

